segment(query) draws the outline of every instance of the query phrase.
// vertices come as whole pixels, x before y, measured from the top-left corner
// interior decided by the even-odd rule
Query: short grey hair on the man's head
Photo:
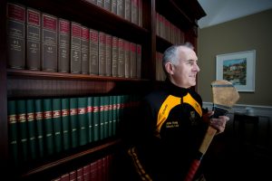
[[[189,49],[194,50],[194,46],[189,42],[171,45],[168,49],[166,49],[166,51],[163,53],[163,56],[162,56],[162,68],[165,73],[167,73],[167,71],[165,70],[164,65],[167,62],[178,64],[179,62],[178,49],[182,46],[188,47]]]

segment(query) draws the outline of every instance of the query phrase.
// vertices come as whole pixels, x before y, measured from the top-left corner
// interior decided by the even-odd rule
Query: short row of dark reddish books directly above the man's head
[[[184,42],[184,33],[163,15],[156,13],[156,34],[173,44]]]

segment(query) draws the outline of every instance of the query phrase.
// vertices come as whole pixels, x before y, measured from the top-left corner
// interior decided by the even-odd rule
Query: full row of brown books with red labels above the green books
[[[10,68],[141,78],[141,44],[24,5],[7,17]]]

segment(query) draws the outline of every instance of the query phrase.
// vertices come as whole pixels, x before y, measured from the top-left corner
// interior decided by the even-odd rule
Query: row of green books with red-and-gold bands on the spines
[[[8,100],[11,158],[15,165],[118,134],[136,95]]]

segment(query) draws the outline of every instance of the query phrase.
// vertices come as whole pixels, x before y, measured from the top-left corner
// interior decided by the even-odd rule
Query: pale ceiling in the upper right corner
[[[199,28],[221,24],[249,14],[256,14],[272,8],[272,0],[198,0],[206,16]],[[271,20],[272,22],[272,20]]]

